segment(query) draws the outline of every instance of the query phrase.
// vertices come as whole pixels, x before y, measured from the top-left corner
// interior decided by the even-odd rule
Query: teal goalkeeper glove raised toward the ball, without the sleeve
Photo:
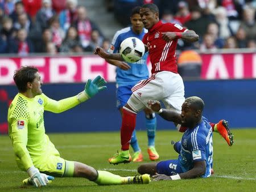
[[[93,79],[93,81],[89,79],[86,82],[84,91],[91,98],[94,95],[96,95],[99,91],[104,90],[106,88],[106,86],[104,86],[105,84],[105,79],[98,75],[95,79]]]

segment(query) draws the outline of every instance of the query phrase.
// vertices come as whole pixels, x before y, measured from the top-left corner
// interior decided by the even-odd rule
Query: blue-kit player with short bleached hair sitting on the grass
[[[154,112],[167,121],[188,127],[180,142],[175,143],[178,159],[142,164],[139,173],[153,175],[155,180],[180,180],[185,178],[209,177],[213,163],[212,127],[202,116],[204,101],[199,97],[188,97],[181,114],[170,109],[161,109],[159,101],[148,101]]]

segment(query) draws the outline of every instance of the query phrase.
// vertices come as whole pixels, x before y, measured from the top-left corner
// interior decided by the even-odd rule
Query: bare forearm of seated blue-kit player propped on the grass
[[[195,161],[194,167],[189,170],[188,172],[180,173],[180,178],[181,179],[186,179],[186,178],[196,178],[203,176],[206,171],[206,163],[205,160],[203,161]]]

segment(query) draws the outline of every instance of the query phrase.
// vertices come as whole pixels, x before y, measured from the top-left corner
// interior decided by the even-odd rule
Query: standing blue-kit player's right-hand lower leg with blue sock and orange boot
[[[159,159],[158,152],[155,149],[156,117],[155,113],[153,113],[151,109],[145,108],[144,112],[146,114],[146,127],[148,139],[147,153],[150,160],[155,161]]]

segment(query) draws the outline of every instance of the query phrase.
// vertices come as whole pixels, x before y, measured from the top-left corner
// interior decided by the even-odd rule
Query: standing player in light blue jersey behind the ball
[[[112,44],[108,50],[109,53],[119,53],[120,44],[123,40],[128,37],[137,37],[138,39],[143,38],[144,34],[147,33],[147,29],[143,28],[141,16],[139,10],[141,7],[135,7],[131,11],[131,27],[123,28],[117,31],[113,37]],[[140,80],[148,78],[147,69],[147,56],[145,53],[141,60],[135,63],[125,63],[121,61],[115,61],[112,59],[106,59],[112,65],[117,66],[117,108],[122,114],[122,107],[127,103],[131,96],[131,88],[135,86]],[[159,155],[155,150],[155,130],[156,130],[156,117],[150,109],[145,109],[146,113],[146,128],[148,136],[148,155],[151,160],[158,160]],[[141,148],[139,147],[136,132],[134,130],[131,137],[131,147],[134,150],[133,161],[142,161],[143,156]]]

